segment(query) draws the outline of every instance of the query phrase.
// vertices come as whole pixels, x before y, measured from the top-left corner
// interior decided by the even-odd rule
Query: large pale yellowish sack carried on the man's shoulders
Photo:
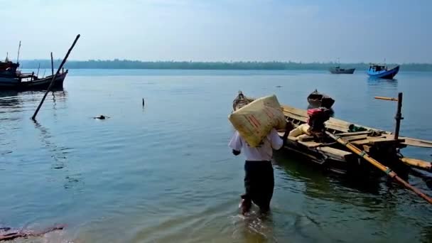
[[[252,147],[257,147],[271,129],[284,129],[286,124],[276,95],[261,97],[238,107],[228,119]]]

